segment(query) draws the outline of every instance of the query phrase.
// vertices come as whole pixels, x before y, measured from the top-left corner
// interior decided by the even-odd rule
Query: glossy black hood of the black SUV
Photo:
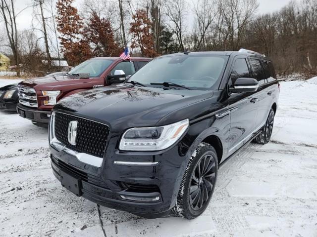
[[[109,124],[112,131],[164,125],[184,118],[182,108],[212,96],[211,91],[119,84],[73,94],[54,110]],[[167,119],[168,118],[168,119]]]

